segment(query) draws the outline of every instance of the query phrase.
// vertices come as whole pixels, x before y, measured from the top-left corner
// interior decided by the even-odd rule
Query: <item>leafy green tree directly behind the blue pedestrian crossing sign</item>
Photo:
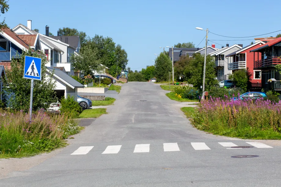
[[[29,49],[27,52],[23,52],[19,59],[12,59],[11,69],[6,70],[8,87],[5,87],[7,93],[12,94],[10,98],[9,107],[16,110],[28,111],[30,101],[30,79],[23,78],[24,72],[24,57],[34,56],[42,59],[41,64],[41,81],[34,81],[33,89],[33,110],[39,110],[41,108],[47,109],[50,104],[57,101],[55,95],[55,82],[52,80],[52,73],[50,76],[46,74],[47,58],[44,52],[34,53]]]

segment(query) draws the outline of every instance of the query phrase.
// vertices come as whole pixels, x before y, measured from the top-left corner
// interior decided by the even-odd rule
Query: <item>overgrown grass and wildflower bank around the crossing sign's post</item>
[[[0,110],[0,158],[52,151],[67,145],[65,139],[82,129],[67,115],[52,115],[43,109],[33,113],[31,122],[22,110]]]

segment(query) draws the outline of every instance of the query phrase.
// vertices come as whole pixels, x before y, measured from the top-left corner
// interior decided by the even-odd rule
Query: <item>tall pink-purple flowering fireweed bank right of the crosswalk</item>
[[[191,116],[199,130],[243,139],[281,139],[281,102],[203,100]]]

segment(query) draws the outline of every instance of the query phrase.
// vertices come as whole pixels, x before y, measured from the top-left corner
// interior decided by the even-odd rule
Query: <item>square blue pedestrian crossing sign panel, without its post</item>
[[[24,78],[41,81],[41,58],[25,56]]]

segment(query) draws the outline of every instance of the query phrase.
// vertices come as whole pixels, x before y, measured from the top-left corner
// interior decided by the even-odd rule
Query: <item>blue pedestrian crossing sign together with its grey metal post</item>
[[[32,117],[33,87],[34,80],[41,81],[41,58],[25,56],[24,60],[24,78],[31,79],[30,103],[29,103],[29,121]]]

